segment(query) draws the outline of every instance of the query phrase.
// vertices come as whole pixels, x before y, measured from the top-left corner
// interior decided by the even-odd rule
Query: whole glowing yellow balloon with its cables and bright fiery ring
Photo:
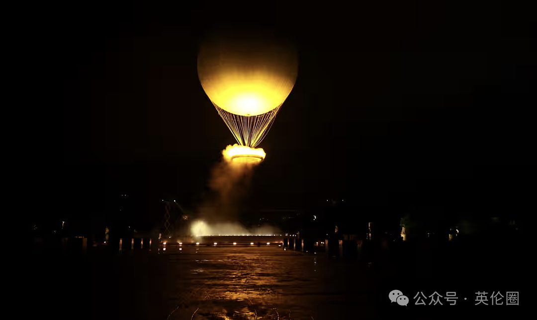
[[[296,51],[266,35],[220,35],[201,46],[201,86],[238,143],[226,148],[224,157],[263,161],[265,152],[256,146],[293,90],[297,72]]]

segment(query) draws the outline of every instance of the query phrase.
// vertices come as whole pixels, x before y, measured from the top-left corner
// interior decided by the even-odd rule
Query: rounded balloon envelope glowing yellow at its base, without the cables
[[[279,107],[293,90],[297,70],[296,51],[264,37],[213,38],[198,55],[198,76],[209,99],[241,116]]]

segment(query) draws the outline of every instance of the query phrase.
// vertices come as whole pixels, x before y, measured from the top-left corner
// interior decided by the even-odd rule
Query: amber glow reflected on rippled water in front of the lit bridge
[[[187,301],[189,305],[170,315],[170,320],[190,319],[198,307],[195,319],[267,319],[276,318],[275,312],[280,310],[280,320],[286,320],[284,314],[292,308],[282,309],[284,294],[290,293],[293,287],[295,291],[296,288],[301,290],[303,283],[287,277],[288,264],[279,263],[279,256],[270,255],[289,258],[291,253],[278,247],[249,249],[230,247],[219,250],[210,247],[210,250],[183,250],[182,255],[170,255],[171,261],[177,262],[180,273],[176,288],[184,289],[177,292],[173,300]],[[199,254],[194,255],[194,252]],[[308,257],[308,261],[314,262],[310,264],[314,272],[317,260]],[[187,272],[185,265],[188,266]]]

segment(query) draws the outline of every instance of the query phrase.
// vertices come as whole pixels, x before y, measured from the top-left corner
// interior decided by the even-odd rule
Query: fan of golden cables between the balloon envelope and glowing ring
[[[231,133],[237,140],[237,143],[250,148],[255,148],[265,138],[269,132],[274,118],[278,114],[281,105],[270,110],[267,113],[257,116],[241,116],[220,108],[215,105],[218,114],[222,117]]]

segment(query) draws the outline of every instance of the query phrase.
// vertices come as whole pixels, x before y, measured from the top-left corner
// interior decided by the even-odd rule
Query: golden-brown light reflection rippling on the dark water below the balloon
[[[284,320],[289,312],[296,319],[312,316],[303,295],[318,291],[317,257],[312,265],[311,256],[278,247],[184,249],[182,255],[169,255],[178,272],[177,292],[170,298],[182,306],[169,319],[190,319],[195,310],[194,318],[214,320],[277,318],[278,314]]]

